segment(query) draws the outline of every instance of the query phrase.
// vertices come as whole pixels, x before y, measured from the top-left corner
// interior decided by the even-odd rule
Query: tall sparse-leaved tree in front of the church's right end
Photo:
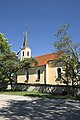
[[[58,41],[53,45],[56,50],[62,52],[63,55],[60,57],[58,62],[62,62],[63,73],[61,80],[67,85],[77,85],[79,80],[78,68],[80,66],[80,43],[73,43],[71,36],[68,34],[70,24],[60,26],[56,37]]]

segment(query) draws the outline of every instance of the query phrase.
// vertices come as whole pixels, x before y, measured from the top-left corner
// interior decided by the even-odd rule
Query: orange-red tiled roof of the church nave
[[[38,61],[38,64],[36,66],[46,65],[48,61],[58,59],[61,54],[62,53],[60,53],[60,52],[56,52],[56,53],[37,56],[37,57],[35,57],[35,59]]]

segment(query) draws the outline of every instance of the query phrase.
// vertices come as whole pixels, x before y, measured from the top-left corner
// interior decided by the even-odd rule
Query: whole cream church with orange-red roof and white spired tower
[[[32,57],[31,51],[26,31],[24,33],[23,47],[20,49],[20,60]],[[38,64],[29,69],[20,70],[17,75],[17,83],[61,85],[62,65],[61,63],[55,64],[60,55],[61,53],[56,52],[36,56],[35,59]]]

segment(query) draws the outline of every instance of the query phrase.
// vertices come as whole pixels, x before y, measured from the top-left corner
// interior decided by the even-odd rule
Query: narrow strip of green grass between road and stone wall
[[[59,99],[76,99],[73,96],[62,96],[62,95],[53,95],[40,92],[27,92],[27,91],[5,91],[0,92],[0,94],[5,95],[18,95],[18,96],[31,96],[31,97],[42,97],[42,98],[59,98]]]

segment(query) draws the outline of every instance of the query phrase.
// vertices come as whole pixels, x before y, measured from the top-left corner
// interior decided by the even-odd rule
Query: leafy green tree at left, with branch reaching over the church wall
[[[4,81],[8,78],[12,89],[12,82],[17,71],[24,68],[28,69],[33,63],[36,64],[37,62],[34,58],[20,61],[16,53],[11,51],[10,47],[7,39],[0,33],[0,80]]]

